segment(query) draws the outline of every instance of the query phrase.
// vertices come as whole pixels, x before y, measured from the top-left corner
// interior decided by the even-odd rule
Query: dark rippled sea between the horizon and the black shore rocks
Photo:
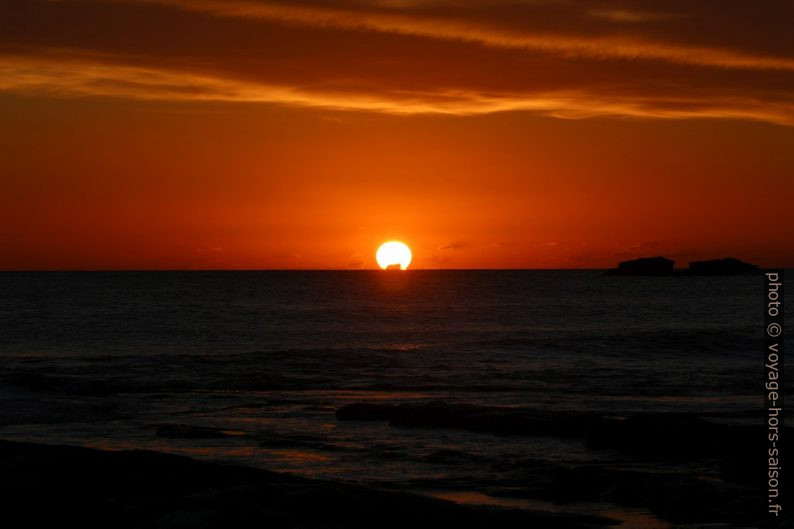
[[[517,461],[618,456],[334,411],[443,400],[747,421],[763,405],[762,289],[599,271],[2,273],[0,438],[478,494]]]

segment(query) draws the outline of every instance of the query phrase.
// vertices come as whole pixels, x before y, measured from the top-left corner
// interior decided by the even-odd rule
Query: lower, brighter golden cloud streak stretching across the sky
[[[743,96],[701,101],[684,97],[665,100],[599,98],[597,94],[572,90],[537,93],[531,97],[522,97],[519,93],[483,94],[465,90],[334,93],[154,68],[2,56],[0,90],[65,97],[272,103],[389,114],[475,115],[530,111],[566,119],[597,116],[740,118],[794,124],[794,104],[769,104]]]

